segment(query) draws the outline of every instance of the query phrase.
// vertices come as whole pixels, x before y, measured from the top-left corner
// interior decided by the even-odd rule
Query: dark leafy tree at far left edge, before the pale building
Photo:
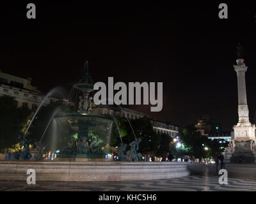
[[[15,99],[10,96],[0,97],[0,151],[14,148],[17,136],[28,124],[31,111],[27,107],[17,108]]]

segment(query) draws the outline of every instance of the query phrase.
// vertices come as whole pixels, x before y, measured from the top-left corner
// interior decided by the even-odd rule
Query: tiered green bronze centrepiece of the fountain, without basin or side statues
[[[103,146],[90,131],[97,129],[101,135],[109,137],[113,120],[91,112],[93,98],[89,95],[93,91],[93,80],[88,71],[79,83],[74,84],[74,89],[81,92],[77,113],[57,115],[54,119],[58,124],[68,124],[77,133],[77,139],[70,138],[70,145],[60,150],[56,161],[105,161]]]

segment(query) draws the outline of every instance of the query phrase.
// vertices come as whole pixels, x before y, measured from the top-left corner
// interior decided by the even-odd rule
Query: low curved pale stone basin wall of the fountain
[[[186,177],[187,163],[100,161],[0,161],[0,180],[24,180],[33,169],[38,181],[122,181]]]

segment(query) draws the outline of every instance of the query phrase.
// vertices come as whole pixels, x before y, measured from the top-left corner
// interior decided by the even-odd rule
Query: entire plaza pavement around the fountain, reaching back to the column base
[[[226,164],[228,184],[220,185],[215,164],[189,164],[191,175],[177,179],[124,182],[0,181],[0,191],[256,191],[256,164]]]

